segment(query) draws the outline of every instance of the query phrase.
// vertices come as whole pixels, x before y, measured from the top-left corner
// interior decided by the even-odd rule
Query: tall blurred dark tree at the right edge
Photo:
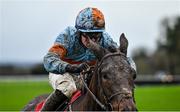
[[[174,20],[165,18],[161,24],[162,36],[158,40],[156,53],[165,51],[168,71],[171,74],[180,73],[180,17]]]

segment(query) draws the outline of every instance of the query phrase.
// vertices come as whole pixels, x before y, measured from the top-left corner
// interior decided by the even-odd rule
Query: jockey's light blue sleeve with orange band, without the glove
[[[69,33],[68,28],[61,32],[56,38],[54,45],[44,56],[44,67],[46,71],[59,74],[66,72],[65,68],[68,63],[61,59],[66,56],[67,49],[73,44],[72,40],[70,40]]]

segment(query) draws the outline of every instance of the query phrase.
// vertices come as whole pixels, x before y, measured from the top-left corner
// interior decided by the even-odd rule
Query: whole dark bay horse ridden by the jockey
[[[120,36],[120,47],[106,50],[90,41],[90,49],[98,58],[90,80],[89,90],[71,104],[75,111],[135,111],[134,75],[127,60],[128,40]],[[47,96],[39,96],[24,110],[33,110],[35,105]]]

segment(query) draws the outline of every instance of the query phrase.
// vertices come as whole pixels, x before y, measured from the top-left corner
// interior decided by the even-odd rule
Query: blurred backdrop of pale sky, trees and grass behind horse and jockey
[[[0,0],[0,111],[52,91],[43,56],[86,7],[104,13],[115,42],[128,38],[138,109],[180,110],[179,0]]]

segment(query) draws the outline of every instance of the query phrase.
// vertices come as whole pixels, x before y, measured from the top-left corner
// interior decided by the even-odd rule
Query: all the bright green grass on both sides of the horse
[[[52,91],[47,81],[0,82],[0,111],[21,110],[35,96]],[[138,86],[138,110],[180,110],[180,85]]]

